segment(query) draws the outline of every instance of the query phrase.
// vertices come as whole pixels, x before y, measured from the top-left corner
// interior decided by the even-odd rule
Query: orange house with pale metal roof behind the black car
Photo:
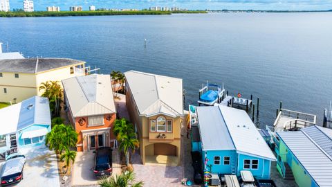
[[[78,133],[77,151],[113,146],[116,120],[110,75],[86,75],[62,80],[68,119]]]

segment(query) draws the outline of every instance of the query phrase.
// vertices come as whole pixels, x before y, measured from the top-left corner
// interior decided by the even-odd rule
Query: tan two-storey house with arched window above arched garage
[[[127,71],[126,103],[140,141],[142,163],[180,164],[183,82]]]

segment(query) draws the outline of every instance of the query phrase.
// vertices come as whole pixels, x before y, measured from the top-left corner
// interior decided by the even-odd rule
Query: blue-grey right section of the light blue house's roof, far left
[[[50,125],[50,107],[48,98],[33,96],[21,102],[17,131],[29,125]]]

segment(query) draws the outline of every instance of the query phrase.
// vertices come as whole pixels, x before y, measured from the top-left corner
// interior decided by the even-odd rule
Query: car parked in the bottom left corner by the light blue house
[[[3,163],[1,169],[1,186],[6,186],[23,180],[23,168],[26,163],[24,155],[15,155]]]

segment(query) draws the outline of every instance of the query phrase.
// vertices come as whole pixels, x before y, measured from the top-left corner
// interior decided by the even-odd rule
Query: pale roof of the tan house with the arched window
[[[127,71],[124,75],[140,115],[183,116],[182,79],[140,71]]]

